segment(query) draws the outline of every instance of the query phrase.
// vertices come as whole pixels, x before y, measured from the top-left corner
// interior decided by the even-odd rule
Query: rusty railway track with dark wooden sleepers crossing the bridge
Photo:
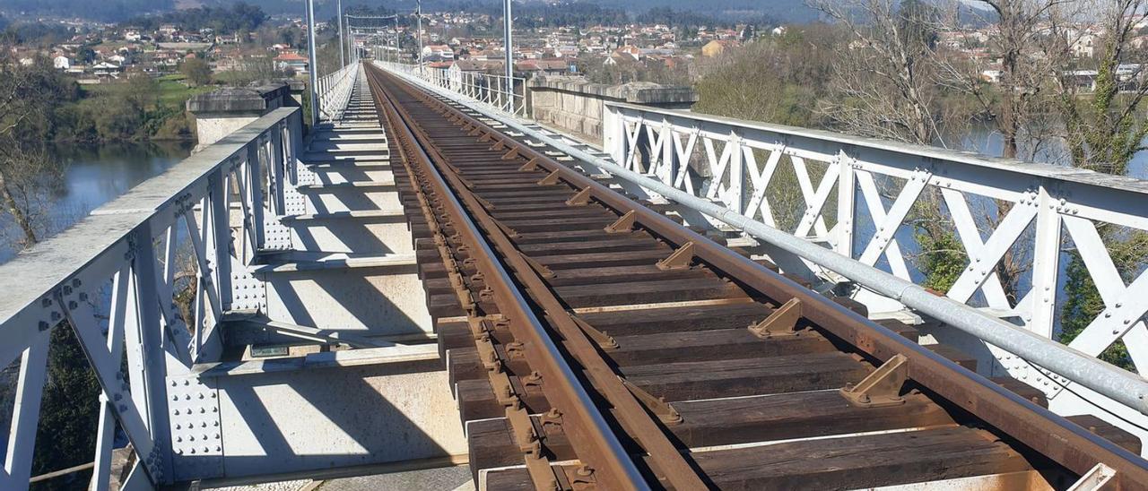
[[[480,488],[1148,485],[1130,435],[367,75]]]

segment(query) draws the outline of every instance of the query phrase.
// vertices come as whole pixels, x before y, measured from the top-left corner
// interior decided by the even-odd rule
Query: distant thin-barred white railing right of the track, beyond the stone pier
[[[527,117],[526,79],[504,75],[491,75],[458,69],[429,68],[416,64],[375,61],[375,65],[393,72],[418,77],[437,87],[442,87],[481,102],[499,111]]]

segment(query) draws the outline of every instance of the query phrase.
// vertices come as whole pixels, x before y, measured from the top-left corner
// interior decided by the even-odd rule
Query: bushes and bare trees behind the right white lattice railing
[[[859,0],[846,5],[851,8],[822,7],[838,20],[837,25],[791,25],[782,36],[703,59],[695,84],[700,99],[693,109],[918,145],[944,146],[945,138],[955,135],[948,145],[957,147],[970,122],[979,119],[1003,135],[1004,156],[1032,161],[1037,148],[1058,148],[1064,164],[1116,176],[1126,174],[1133,156],[1146,150],[1148,85],[1130,91],[1117,73],[1120,63],[1135,56],[1131,40],[1139,36],[1134,25],[1143,18],[1137,14],[1142,11],[1138,2],[1114,2],[1097,15],[1096,29],[1107,34],[1096,55],[1084,60],[1071,56],[1064,45],[1071,36],[1034,34],[1045,29],[1046,18],[994,2],[1002,20],[996,22],[999,36],[1004,40],[991,39],[985,45],[1006,54],[1035,53],[1004,63],[1007,73],[995,84],[980,79],[982,68],[938,48],[938,30],[951,28],[944,25],[947,17],[928,3],[905,0],[895,11],[879,10],[887,3]],[[868,22],[852,24],[859,15]],[[1081,88],[1063,78],[1081,64],[1096,67],[1094,87]],[[783,190],[796,187],[785,185],[793,181],[783,173],[785,167],[779,166],[774,177]],[[883,195],[895,194],[899,187],[878,185]],[[977,226],[994,229],[1011,203],[979,206],[972,210]],[[800,213],[804,203],[775,204],[774,211],[784,215],[791,208]],[[775,219],[781,228],[790,229],[786,217]],[[906,224],[920,247],[914,260],[924,275],[922,285],[947,291],[969,258],[939,193],[928,189]],[[1148,265],[1148,234],[1112,224],[1094,225],[1116,271],[1125,283],[1133,281]],[[1013,305],[1024,294],[1022,280],[1030,274],[1026,255],[1032,240],[1022,236],[994,270]],[[1065,299],[1058,305],[1058,340],[1070,343],[1110,305],[1068,235],[1063,246],[1066,278]],[[1099,357],[1135,369],[1120,342]]]

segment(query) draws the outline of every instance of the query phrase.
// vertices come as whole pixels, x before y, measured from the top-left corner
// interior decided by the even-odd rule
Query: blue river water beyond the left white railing
[[[49,235],[68,228],[103,203],[158,176],[191,154],[191,142],[51,143],[49,155],[64,165],[64,181],[47,196],[44,221]],[[0,264],[18,252],[20,229],[0,217]]]

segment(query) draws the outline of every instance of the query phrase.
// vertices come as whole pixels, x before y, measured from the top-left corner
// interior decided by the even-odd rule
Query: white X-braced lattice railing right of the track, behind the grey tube
[[[923,219],[915,210],[943,210],[928,219],[943,221],[959,242],[948,244],[949,252],[967,258],[943,294],[1046,338],[1057,330],[1071,247],[1104,309],[1069,346],[1096,357],[1123,342],[1137,371],[1148,369],[1148,273],[1118,271],[1097,232],[1148,231],[1148,181],[610,102],[603,140],[627,170],[908,282],[923,279],[913,262],[920,246],[910,220]],[[1003,281],[1002,262],[1022,273]],[[841,280],[807,259],[784,266]],[[878,293],[876,278],[848,280],[862,287],[855,297],[871,313],[905,310]],[[1141,435],[1148,428],[1142,402],[1128,407],[1016,353],[978,348],[996,360],[988,372],[1041,389],[1062,414],[1117,415],[1139,426]]]

